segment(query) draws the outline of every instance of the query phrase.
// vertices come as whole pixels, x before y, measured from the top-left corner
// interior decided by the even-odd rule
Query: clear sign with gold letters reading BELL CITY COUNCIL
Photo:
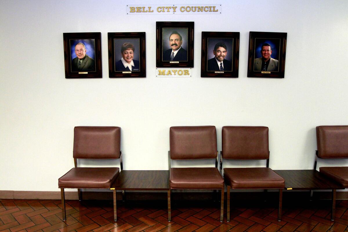
[[[221,4],[126,5],[127,15],[141,14],[221,14]]]

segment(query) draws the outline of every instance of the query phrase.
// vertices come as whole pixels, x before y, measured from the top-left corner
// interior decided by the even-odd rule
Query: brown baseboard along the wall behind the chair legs
[[[226,193],[225,193],[226,194]],[[233,198],[237,200],[256,200],[263,199],[263,192],[231,192]],[[268,194],[277,197],[278,192],[269,192]],[[286,198],[303,198],[309,197],[309,191],[284,192],[283,200]],[[173,200],[211,200],[215,197],[212,192],[172,192]],[[217,196],[220,198],[220,194]],[[112,191],[107,192],[90,192],[83,191],[82,198],[85,200],[112,200]],[[6,191],[0,190],[0,199],[53,199],[60,200],[60,191]],[[66,200],[78,200],[77,191],[65,191]],[[117,199],[122,199],[122,192],[117,192]],[[166,200],[166,192],[127,192],[127,200]],[[226,199],[226,196],[225,196]],[[313,199],[331,199],[331,191],[315,191]],[[348,191],[340,191],[336,193],[337,200],[347,200]]]

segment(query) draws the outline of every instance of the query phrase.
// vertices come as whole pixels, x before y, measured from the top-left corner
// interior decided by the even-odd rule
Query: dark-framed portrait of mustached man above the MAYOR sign
[[[194,22],[156,22],[156,67],[193,67]]]

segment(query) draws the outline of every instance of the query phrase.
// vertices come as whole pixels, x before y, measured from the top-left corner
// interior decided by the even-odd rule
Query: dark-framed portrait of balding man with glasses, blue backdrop
[[[101,33],[63,33],[65,78],[102,78]]]

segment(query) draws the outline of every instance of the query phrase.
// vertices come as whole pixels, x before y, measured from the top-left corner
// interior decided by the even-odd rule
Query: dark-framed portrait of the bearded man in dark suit
[[[201,77],[238,77],[239,32],[202,31]]]

